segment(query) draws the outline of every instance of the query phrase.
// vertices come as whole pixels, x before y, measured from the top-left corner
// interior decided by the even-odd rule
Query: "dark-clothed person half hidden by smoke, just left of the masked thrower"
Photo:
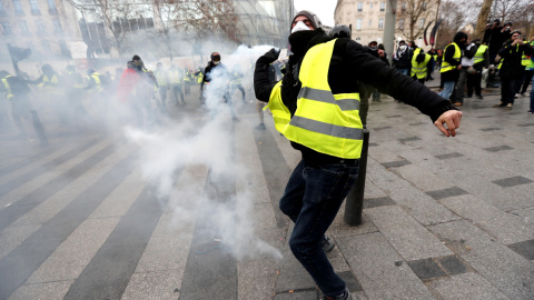
[[[214,113],[217,110],[218,101],[222,100],[225,103],[228,104],[228,108],[230,109],[231,119],[234,121],[237,121],[238,119],[236,117],[236,112],[234,111],[231,97],[228,92],[229,82],[230,73],[220,62],[220,54],[218,52],[212,52],[211,60],[208,62],[208,66],[204,70],[204,78],[202,82],[200,83],[200,88],[202,90],[201,97],[204,99],[204,102],[206,103],[206,92],[208,92],[208,94],[212,97],[211,100],[216,101],[207,103],[208,108],[212,109]],[[205,88],[205,84],[209,86]]]

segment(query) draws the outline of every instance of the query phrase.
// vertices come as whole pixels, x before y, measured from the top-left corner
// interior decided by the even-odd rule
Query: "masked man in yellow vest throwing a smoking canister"
[[[352,299],[326,257],[333,241],[325,232],[358,176],[363,126],[354,83],[373,84],[418,108],[446,137],[456,134],[462,112],[356,41],[330,38],[310,11],[297,12],[290,31],[293,54],[283,79],[274,83],[268,79],[269,64],[279,56],[276,49],[257,60],[254,74],[256,98],[268,102],[276,130],[301,152],[279,208],[295,222],[289,247],[325,294],[323,299]]]

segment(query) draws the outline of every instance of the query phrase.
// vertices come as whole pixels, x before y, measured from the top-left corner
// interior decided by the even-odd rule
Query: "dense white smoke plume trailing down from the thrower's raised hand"
[[[271,47],[239,47],[231,54],[221,54],[222,66],[239,64],[248,68],[249,63],[268,51]],[[217,70],[219,69],[219,70]],[[251,76],[250,73],[247,76]],[[187,184],[175,188],[175,173],[188,166],[204,166],[210,170],[211,184],[224,186],[228,178],[243,182],[249,178],[246,166],[235,158],[234,124],[229,112],[229,103],[225,103],[230,78],[228,72],[216,68],[211,73],[211,82],[205,87],[207,112],[205,120],[192,119],[169,121],[165,127],[158,127],[150,132],[138,128],[125,129],[126,137],[140,147],[140,164],[144,177],[157,187],[158,197],[172,194],[174,211],[177,219],[190,219],[199,203],[209,208],[209,228],[204,234],[217,237],[225,250],[236,259],[259,254],[269,254],[281,259],[278,249],[269,246],[254,233],[253,197],[249,190],[237,190],[229,199],[209,199],[198,190],[189,190]],[[198,127],[198,123],[201,123]],[[219,197],[219,196],[217,196]],[[195,203],[191,204],[191,199]],[[216,233],[215,233],[216,232]],[[215,236],[214,236],[215,234]]]

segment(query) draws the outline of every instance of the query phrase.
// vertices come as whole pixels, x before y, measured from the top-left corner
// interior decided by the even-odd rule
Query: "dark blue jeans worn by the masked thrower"
[[[303,159],[280,199],[280,210],[295,222],[289,247],[323,293],[329,297],[342,294],[346,284],[334,272],[320,242],[357,176],[357,162],[354,166],[313,166]]]

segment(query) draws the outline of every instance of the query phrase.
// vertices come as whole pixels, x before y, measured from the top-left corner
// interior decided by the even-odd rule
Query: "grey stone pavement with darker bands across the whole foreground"
[[[43,116],[47,147],[2,132],[0,299],[319,299],[277,206],[299,153],[239,98],[222,159],[241,169],[220,179],[208,157],[225,148],[198,149],[207,163],[170,170],[170,194],[147,177],[147,144],[120,131]],[[534,116],[528,98],[498,99],[465,99],[455,138],[392,98],[372,103],[363,223],[343,206],[327,232],[353,299],[534,299]],[[202,128],[196,88],[186,101],[168,119]],[[225,214],[235,228],[214,221]]]

